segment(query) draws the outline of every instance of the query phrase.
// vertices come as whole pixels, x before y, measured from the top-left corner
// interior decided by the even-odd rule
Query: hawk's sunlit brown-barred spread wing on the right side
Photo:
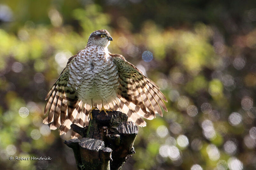
[[[167,112],[163,102],[163,100],[166,102],[167,100],[156,83],[144,76],[139,69],[127,62],[122,55],[109,55],[112,56],[118,70],[120,85],[117,90],[117,98],[130,109],[130,115],[127,114],[130,120],[140,126],[145,126],[146,123],[140,116],[146,119],[155,118],[156,113],[163,116],[160,106]],[[136,114],[140,116],[136,116]]]

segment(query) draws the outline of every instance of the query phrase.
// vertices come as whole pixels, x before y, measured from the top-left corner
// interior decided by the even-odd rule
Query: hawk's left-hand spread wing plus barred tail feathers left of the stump
[[[69,58],[67,66],[45,97],[47,102],[44,115],[48,113],[48,116],[43,122],[45,124],[51,123],[51,129],[59,128],[60,135],[66,134],[72,123],[84,127],[89,122],[88,115],[91,106],[79,101],[75,89],[68,84],[70,76],[68,66],[72,64],[76,56]],[[72,131],[71,136],[74,138],[79,135]]]

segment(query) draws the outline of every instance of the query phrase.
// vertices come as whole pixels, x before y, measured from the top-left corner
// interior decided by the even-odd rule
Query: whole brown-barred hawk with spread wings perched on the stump
[[[51,129],[66,134],[75,123],[85,127],[90,112],[101,108],[107,111],[121,111],[128,121],[146,126],[146,119],[153,119],[156,113],[163,116],[167,108],[159,87],[142,74],[120,54],[111,54],[108,45],[112,37],[107,30],[96,30],[90,34],[86,47],[69,58],[67,66],[54,83],[47,100],[44,119]],[[72,131],[71,137],[79,135]]]

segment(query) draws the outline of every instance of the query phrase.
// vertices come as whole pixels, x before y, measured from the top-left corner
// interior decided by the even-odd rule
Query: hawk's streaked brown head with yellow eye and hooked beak
[[[108,47],[110,41],[112,41],[112,37],[108,33],[107,30],[96,30],[89,36],[87,45],[97,45],[102,46],[103,48]]]

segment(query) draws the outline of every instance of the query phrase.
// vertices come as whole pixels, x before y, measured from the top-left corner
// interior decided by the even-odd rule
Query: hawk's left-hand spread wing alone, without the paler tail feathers
[[[72,63],[76,56],[72,56],[68,60],[68,64]],[[43,122],[45,124],[51,123],[51,129],[60,128],[60,134],[66,133],[67,129],[70,129],[71,121],[67,121],[67,119],[71,118],[78,104],[76,91],[68,87],[68,64],[45,97],[47,103],[44,108],[44,114],[48,111],[49,114]]]

